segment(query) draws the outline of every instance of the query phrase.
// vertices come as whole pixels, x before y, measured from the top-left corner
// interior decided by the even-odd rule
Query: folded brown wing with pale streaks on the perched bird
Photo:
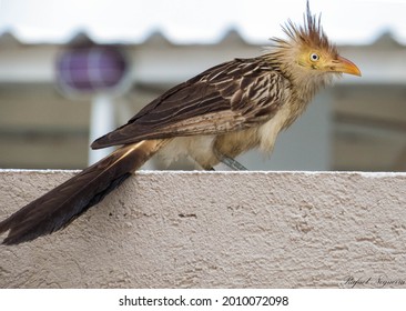
[[[285,83],[260,58],[225,62],[170,89],[92,148],[250,128],[275,114]]]

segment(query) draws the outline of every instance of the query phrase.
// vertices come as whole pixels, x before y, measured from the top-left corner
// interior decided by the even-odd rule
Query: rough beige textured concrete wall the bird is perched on
[[[0,217],[74,172],[0,171]],[[0,288],[406,288],[406,174],[143,172]]]

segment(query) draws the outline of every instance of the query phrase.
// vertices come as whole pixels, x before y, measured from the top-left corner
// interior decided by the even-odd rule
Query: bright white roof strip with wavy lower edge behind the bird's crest
[[[0,0],[0,36],[26,43],[93,40],[142,42],[153,32],[174,43],[211,43],[231,30],[251,43],[282,36],[281,24],[301,23],[305,0]],[[311,0],[323,27],[342,44],[368,44],[382,33],[406,44],[406,0]]]

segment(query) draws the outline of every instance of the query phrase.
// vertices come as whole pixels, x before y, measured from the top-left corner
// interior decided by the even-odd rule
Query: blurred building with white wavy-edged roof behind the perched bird
[[[94,133],[212,66],[257,56],[270,36],[283,36],[281,23],[301,22],[305,9],[304,0],[205,2],[1,1],[0,168],[84,168]],[[406,171],[406,2],[311,7],[363,77],[345,76],[321,92],[271,158],[252,151],[238,160],[252,170]],[[61,56],[83,47],[122,53],[118,87],[79,92],[58,82]]]

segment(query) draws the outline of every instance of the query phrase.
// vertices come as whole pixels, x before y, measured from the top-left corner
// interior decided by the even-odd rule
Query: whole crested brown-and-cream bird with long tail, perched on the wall
[[[361,76],[328,41],[308,3],[304,24],[290,20],[283,31],[285,39],[271,39],[266,53],[207,69],[95,140],[93,149],[121,147],[0,222],[0,233],[9,231],[3,243],[64,228],[155,153],[169,160],[185,156],[205,170],[219,162],[243,168],[233,158],[253,148],[270,152],[278,132],[333,78]]]

